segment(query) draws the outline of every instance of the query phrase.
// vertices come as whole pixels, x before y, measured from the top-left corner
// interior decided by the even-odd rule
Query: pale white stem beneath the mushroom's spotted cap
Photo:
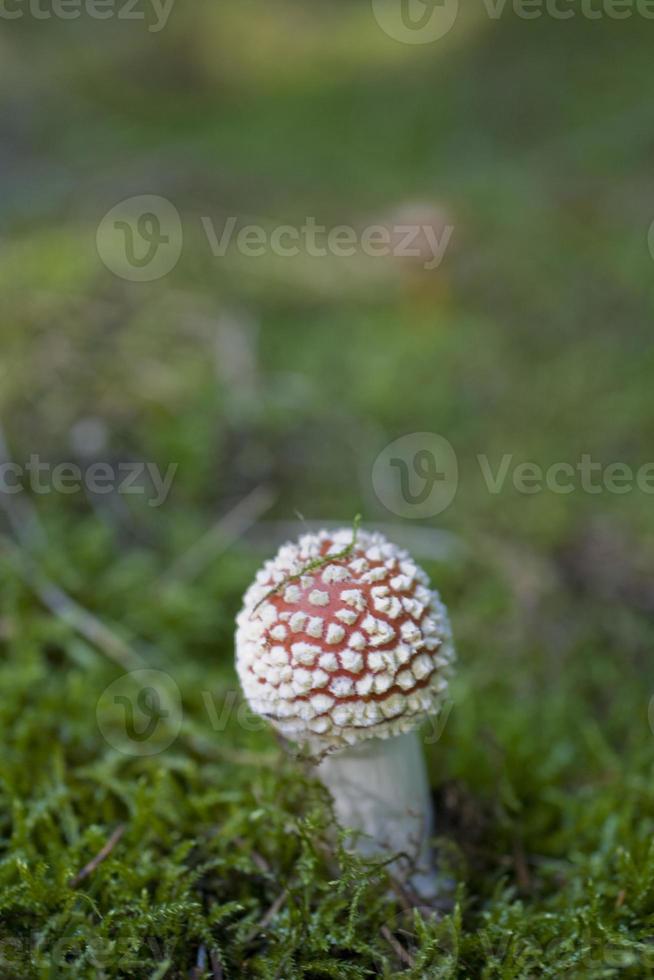
[[[408,855],[391,869],[420,897],[435,897],[439,885],[429,846],[434,815],[418,733],[360,742],[328,755],[317,771],[339,823],[366,835],[357,838],[357,849]]]

